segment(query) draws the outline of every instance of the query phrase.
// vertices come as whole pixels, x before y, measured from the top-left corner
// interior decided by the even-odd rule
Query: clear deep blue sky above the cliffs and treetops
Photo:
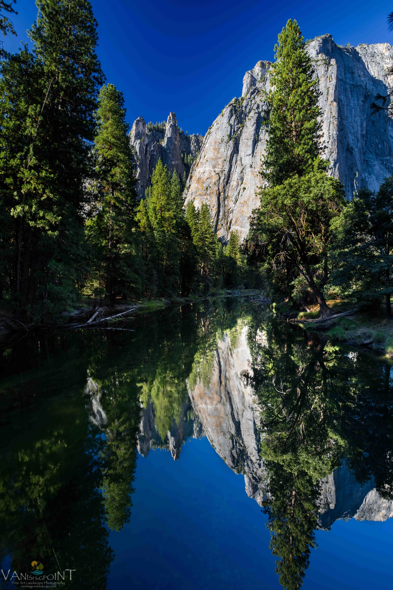
[[[98,55],[107,81],[124,93],[130,124],[138,116],[176,113],[189,133],[206,133],[223,107],[242,94],[246,70],[273,60],[278,32],[296,18],[306,39],[331,33],[336,43],[391,42],[387,15],[393,0],[93,0]],[[12,19],[16,51],[37,15],[32,0],[18,0]]]

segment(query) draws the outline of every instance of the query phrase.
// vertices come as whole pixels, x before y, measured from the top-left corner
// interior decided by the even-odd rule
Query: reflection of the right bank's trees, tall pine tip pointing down
[[[374,478],[379,493],[393,497],[390,368],[366,355],[356,365],[358,353],[345,355],[325,336],[269,313],[255,313],[249,345],[252,361],[244,376],[260,405],[271,547],[280,558],[280,584],[298,588],[315,546],[319,479],[344,455],[359,483]]]

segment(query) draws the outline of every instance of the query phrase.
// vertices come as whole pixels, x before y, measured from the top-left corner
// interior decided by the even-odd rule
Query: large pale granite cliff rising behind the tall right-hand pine
[[[362,186],[379,188],[393,174],[393,123],[384,113],[371,114],[377,93],[387,94],[387,68],[393,48],[387,43],[339,47],[331,35],[309,42],[318,77],[323,158],[328,173],[344,184],[347,198]],[[259,170],[266,148],[264,91],[269,90],[270,62],[259,61],[243,78],[240,99],[233,99],[204,137],[187,182],[186,201],[207,202],[216,232],[226,242],[230,231],[246,237],[252,209],[259,205]]]

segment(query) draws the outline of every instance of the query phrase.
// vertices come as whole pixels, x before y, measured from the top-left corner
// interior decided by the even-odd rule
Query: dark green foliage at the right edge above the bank
[[[385,300],[393,293],[393,176],[377,194],[362,189],[335,220],[332,282],[358,301]]]

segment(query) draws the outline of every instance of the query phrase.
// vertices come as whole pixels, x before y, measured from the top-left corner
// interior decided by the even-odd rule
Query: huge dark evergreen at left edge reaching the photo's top
[[[103,73],[87,0],[42,0],[23,48],[2,61],[0,190],[14,217],[8,289],[25,319],[72,303],[83,268],[81,207]]]

